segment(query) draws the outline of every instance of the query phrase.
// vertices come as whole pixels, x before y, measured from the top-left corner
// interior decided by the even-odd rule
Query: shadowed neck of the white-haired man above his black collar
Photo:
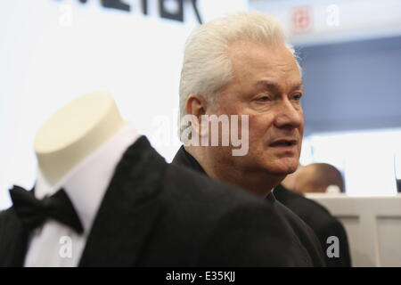
[[[240,186],[262,199],[265,199],[284,178],[281,175],[267,174],[265,171],[246,171],[233,168],[232,164],[216,163],[216,159],[209,159],[206,153],[195,147],[184,149],[199,162],[209,177]]]

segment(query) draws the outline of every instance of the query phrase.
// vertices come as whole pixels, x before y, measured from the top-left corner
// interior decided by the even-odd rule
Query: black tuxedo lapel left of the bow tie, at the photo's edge
[[[28,233],[14,210],[0,214],[0,266],[23,266],[28,249]]]

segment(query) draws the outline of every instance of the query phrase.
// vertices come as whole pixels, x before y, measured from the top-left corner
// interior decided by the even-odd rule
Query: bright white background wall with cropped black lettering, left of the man
[[[246,10],[245,0],[198,1],[202,20]],[[12,184],[36,179],[33,140],[55,110],[79,95],[109,91],[124,118],[171,160],[176,136],[178,82],[184,42],[198,25],[192,5],[184,23],[163,20],[158,1],[130,12],[99,0],[0,2],[0,209]],[[174,9],[175,1],[171,2]]]

